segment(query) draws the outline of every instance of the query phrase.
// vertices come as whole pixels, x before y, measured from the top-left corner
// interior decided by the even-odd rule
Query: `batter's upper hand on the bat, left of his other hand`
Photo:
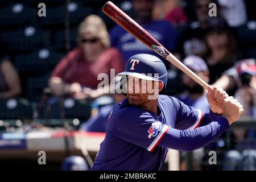
[[[211,87],[207,93],[207,100],[210,105],[210,110],[216,114],[222,114],[222,104],[228,94],[222,88]]]

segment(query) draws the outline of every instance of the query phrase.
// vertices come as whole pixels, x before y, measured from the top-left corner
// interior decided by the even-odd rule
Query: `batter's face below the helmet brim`
[[[132,105],[143,105],[158,97],[158,81],[142,80],[128,76],[126,92],[129,103]]]

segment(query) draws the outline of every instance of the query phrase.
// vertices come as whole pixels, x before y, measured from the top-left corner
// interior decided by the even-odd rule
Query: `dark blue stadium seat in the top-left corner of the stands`
[[[1,1],[0,1],[1,2]],[[2,30],[11,30],[11,28],[23,27],[31,23],[35,10],[27,7],[23,3],[15,3],[0,8],[0,26]]]

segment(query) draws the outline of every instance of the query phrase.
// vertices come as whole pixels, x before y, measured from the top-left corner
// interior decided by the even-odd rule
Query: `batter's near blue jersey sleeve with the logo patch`
[[[117,138],[152,152],[169,129],[170,126],[156,121],[150,113],[130,109],[119,115],[114,133]]]

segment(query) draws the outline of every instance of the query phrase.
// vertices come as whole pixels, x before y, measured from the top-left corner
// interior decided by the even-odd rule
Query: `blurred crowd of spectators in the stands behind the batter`
[[[243,117],[256,116],[256,14],[251,1],[132,0],[121,5],[205,82],[221,87],[237,98],[245,109]],[[88,101],[91,113],[80,130],[105,132],[110,111],[125,98],[122,94],[110,92],[113,83],[118,82],[115,75],[124,69],[126,60],[137,53],[150,53],[164,61],[168,69],[166,94],[197,109],[209,110],[206,90],[122,27],[106,24],[104,16],[86,16],[77,27],[76,43],[76,47],[62,59],[55,60],[55,68],[48,70],[51,74],[48,75],[47,89],[41,92],[42,96],[47,96],[47,104],[57,103],[61,98]],[[1,102],[26,98],[12,52],[4,43],[1,43],[0,50]],[[110,69],[115,70],[115,75],[111,75]],[[98,89],[100,73],[105,73],[112,80]],[[45,97],[38,103],[43,99]],[[236,142],[221,156],[225,161],[223,169],[255,169],[256,142],[246,142],[246,138],[256,137],[254,129],[236,129],[232,136]],[[219,143],[209,145],[205,150],[225,148],[225,142],[221,146]],[[195,169],[204,169],[201,166],[201,160],[207,155],[204,148],[193,155]],[[181,169],[185,169],[183,156],[181,154]]]

